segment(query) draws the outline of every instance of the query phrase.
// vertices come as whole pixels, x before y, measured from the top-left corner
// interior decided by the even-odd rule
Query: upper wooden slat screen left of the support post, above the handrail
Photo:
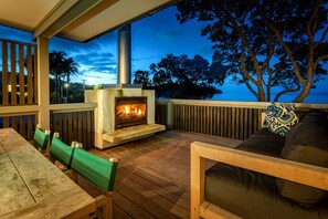
[[[38,104],[36,44],[0,39],[0,46],[1,105]]]

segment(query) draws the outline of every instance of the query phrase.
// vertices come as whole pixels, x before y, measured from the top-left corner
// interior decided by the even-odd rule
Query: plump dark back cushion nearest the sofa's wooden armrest
[[[314,109],[287,134],[282,158],[328,167],[328,121],[326,114]],[[328,197],[328,191],[309,186],[276,180],[279,194],[304,207],[313,207]]]

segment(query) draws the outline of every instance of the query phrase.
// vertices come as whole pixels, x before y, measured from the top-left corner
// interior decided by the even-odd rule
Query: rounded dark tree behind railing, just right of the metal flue
[[[186,54],[168,54],[159,63],[152,63],[150,71],[157,97],[210,98],[215,93],[212,84],[222,83],[201,55],[189,59]],[[142,74],[147,75],[145,72]]]

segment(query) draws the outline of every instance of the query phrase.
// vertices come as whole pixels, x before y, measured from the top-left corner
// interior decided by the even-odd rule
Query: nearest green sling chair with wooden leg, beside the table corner
[[[75,147],[72,169],[75,173],[73,180],[77,181],[76,174],[78,174],[102,191],[102,195],[95,198],[97,208],[103,209],[103,218],[113,218],[112,191],[117,170],[117,159],[110,158],[108,160]]]

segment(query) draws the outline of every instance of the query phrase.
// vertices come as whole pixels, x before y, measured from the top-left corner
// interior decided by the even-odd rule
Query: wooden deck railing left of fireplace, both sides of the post
[[[38,121],[39,105],[1,106],[0,128],[12,127],[25,139],[32,140]],[[54,104],[50,105],[51,132],[60,133],[66,144],[82,143],[85,148],[94,147],[94,111],[96,104]]]

